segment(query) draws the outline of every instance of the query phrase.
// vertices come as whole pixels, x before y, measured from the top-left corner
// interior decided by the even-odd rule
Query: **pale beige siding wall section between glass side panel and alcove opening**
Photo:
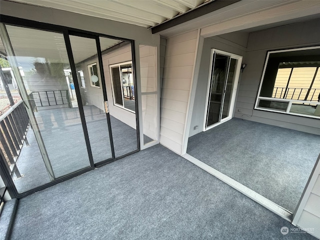
[[[160,143],[181,153],[197,31],[166,39],[160,105]]]

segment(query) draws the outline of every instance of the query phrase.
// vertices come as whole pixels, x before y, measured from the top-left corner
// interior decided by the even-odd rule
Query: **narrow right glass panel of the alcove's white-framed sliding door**
[[[230,58],[230,65],[229,65],[227,81],[226,81],[225,90],[224,90],[221,119],[229,116],[231,98],[232,98],[232,92],[233,92],[233,86],[234,86],[234,80],[235,80],[236,66],[237,66],[237,59]]]

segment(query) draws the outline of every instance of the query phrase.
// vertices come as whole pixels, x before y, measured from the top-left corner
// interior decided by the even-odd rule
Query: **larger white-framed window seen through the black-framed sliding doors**
[[[113,104],[135,112],[132,62],[110,65]]]

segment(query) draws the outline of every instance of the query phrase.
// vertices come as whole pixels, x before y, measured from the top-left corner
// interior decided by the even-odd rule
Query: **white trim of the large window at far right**
[[[264,74],[265,74],[266,65],[267,65],[267,62],[269,60],[270,53],[296,51],[296,50],[308,50],[308,49],[319,49],[319,48],[320,48],[320,46],[308,46],[308,47],[291,48],[291,49],[285,49],[285,50],[268,51],[267,54],[266,54],[265,62],[264,62],[262,76],[261,76],[261,79],[260,79],[259,90],[258,90],[258,93],[257,93],[257,96],[256,96],[256,100],[255,100],[255,104],[254,104],[254,109],[320,119],[320,116],[314,116],[314,115],[307,115],[307,114],[299,114],[299,113],[295,113],[295,112],[290,112],[290,107],[292,105],[292,102],[302,102],[302,103],[303,102],[304,103],[307,102],[307,103],[311,103],[311,104],[320,105],[320,102],[318,102],[318,101],[303,101],[303,100],[294,100],[294,99],[284,99],[284,98],[274,98],[274,97],[262,97],[262,96],[259,96],[260,95],[260,91],[261,91],[261,87],[262,87]],[[259,100],[275,100],[275,101],[288,102],[288,105],[287,105],[285,111],[281,111],[281,110],[276,110],[276,109],[259,107],[258,106]]]

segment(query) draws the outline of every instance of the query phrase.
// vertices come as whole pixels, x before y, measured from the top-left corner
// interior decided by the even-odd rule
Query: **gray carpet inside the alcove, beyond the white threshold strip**
[[[189,137],[187,153],[293,212],[320,136],[232,118]]]

